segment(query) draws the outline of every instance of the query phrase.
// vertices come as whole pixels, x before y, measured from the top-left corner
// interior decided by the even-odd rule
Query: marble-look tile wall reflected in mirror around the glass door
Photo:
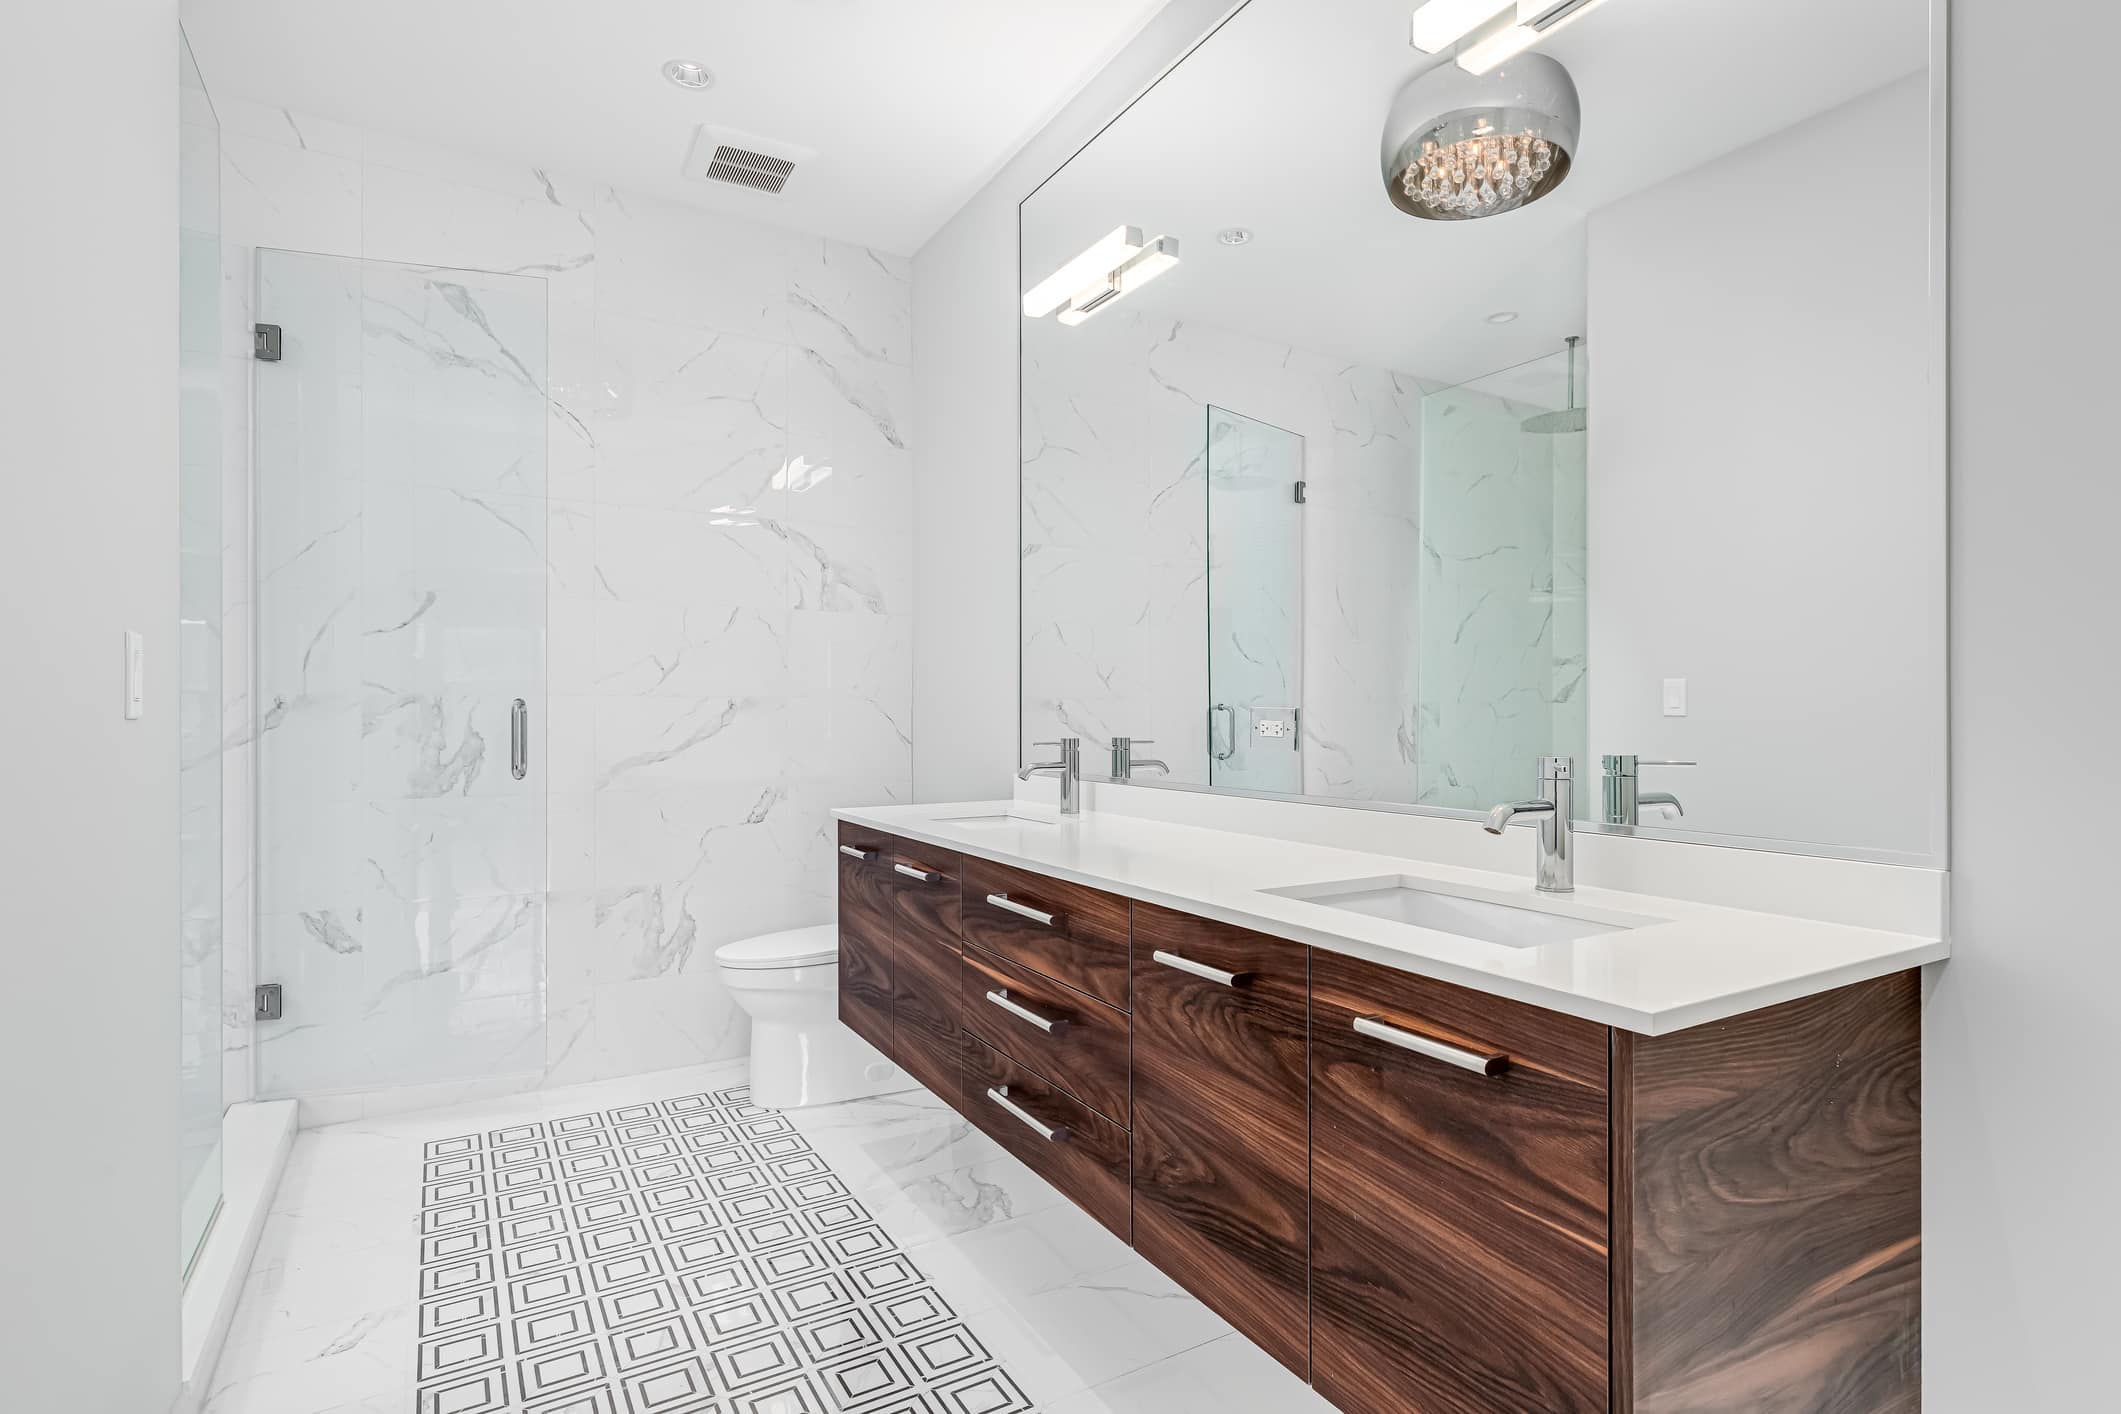
[[[1304,439],[1302,791],[1415,797],[1417,379],[1116,310],[1024,322],[1024,740],[1209,780],[1207,407]]]

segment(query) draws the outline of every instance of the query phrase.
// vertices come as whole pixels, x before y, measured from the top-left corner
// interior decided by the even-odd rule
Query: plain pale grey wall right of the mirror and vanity
[[[2108,121],[2070,55],[2121,11],[2026,23],[1960,0],[1951,36],[1951,912],[1924,1015],[1924,1384],[1930,1414],[2115,1403],[2121,916],[2108,757],[2121,704],[2108,407],[2121,297],[2110,187],[2070,144]],[[1996,199],[2074,191],[2030,214]],[[2066,799],[2062,810],[2055,799]]]

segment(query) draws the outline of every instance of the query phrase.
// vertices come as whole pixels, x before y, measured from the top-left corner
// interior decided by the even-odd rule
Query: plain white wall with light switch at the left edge
[[[176,6],[0,49],[0,1403],[178,1384]],[[146,636],[146,714],[121,636]]]

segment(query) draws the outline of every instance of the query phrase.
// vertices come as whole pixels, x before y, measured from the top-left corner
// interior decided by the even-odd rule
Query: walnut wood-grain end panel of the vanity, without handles
[[[1631,1049],[1633,1414],[1913,1414],[1920,975]]]

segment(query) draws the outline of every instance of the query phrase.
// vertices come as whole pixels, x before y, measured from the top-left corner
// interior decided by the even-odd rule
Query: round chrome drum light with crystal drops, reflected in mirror
[[[1385,117],[1385,195],[1423,220],[1531,206],[1570,176],[1582,106],[1570,70],[1525,53],[1489,74],[1415,74]]]

